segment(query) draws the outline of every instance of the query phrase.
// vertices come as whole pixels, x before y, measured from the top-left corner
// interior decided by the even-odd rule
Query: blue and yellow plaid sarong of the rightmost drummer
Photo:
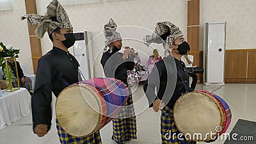
[[[179,140],[177,138],[179,134],[179,130],[175,126],[175,122],[173,120],[173,109],[169,108],[168,106],[165,106],[162,109],[161,112],[161,138],[162,143],[174,143],[174,144],[193,144],[196,143],[196,141],[187,141],[185,136],[182,135]],[[174,137],[173,137],[174,136]],[[183,138],[183,140],[182,140]]]

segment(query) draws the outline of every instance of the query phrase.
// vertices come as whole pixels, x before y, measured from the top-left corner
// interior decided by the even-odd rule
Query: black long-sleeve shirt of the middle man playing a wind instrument
[[[107,78],[116,78],[127,84],[127,70],[134,69],[134,61],[133,59],[124,60],[122,58],[123,54],[117,51],[113,48],[111,53],[109,50],[105,52],[102,55],[100,64],[102,64],[104,74]]]

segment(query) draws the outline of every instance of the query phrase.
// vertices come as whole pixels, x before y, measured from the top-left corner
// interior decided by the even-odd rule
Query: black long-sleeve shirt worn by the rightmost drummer
[[[186,87],[180,76],[184,80]],[[170,55],[157,62],[143,87],[150,106],[152,106],[153,101],[158,97],[167,106],[173,108],[177,99],[186,93],[186,88],[188,91],[191,91],[188,78],[189,75],[184,62]],[[155,87],[159,87],[157,96],[155,94]]]

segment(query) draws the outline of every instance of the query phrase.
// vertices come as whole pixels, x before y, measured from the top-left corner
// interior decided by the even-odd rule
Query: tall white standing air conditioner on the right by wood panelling
[[[204,27],[205,85],[224,85],[226,22],[208,22]]]

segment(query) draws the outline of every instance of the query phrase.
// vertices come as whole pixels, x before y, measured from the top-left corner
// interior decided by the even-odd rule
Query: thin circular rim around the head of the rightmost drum
[[[180,96],[179,99],[177,99],[177,101],[175,102],[175,104],[174,104],[174,106],[173,106],[173,120],[174,120],[174,122],[175,122],[176,127],[177,127],[177,122],[176,122],[176,120],[175,120],[175,106],[177,105],[177,102],[180,101],[180,99],[182,99],[183,96],[186,96],[186,95],[191,94],[191,93],[200,93],[200,94],[204,94],[205,96],[207,96],[207,93],[198,92],[198,91],[188,92],[188,93],[183,94],[182,96]],[[214,104],[216,104],[216,106],[217,106],[219,112],[221,113],[221,115],[220,115],[220,117],[221,117],[220,126],[222,127],[222,125],[223,125],[223,112],[222,112],[222,110],[221,110],[221,108],[220,108],[220,105],[218,104],[218,101],[216,101],[216,99],[214,99],[212,96],[207,96],[207,97],[209,97],[209,98],[214,102]],[[217,99],[217,100],[218,100],[218,99]],[[180,128],[179,128],[179,127],[177,127],[177,129],[178,129],[179,132],[182,133],[183,135],[185,134],[184,132],[180,131]],[[216,135],[218,135],[218,134],[219,134],[219,133],[216,133]],[[185,135],[184,135],[184,136],[185,136]],[[218,137],[217,137],[217,138],[218,138]],[[211,140],[211,138],[207,138],[207,140],[193,140],[193,141],[205,142],[205,141],[209,141],[209,140]]]

